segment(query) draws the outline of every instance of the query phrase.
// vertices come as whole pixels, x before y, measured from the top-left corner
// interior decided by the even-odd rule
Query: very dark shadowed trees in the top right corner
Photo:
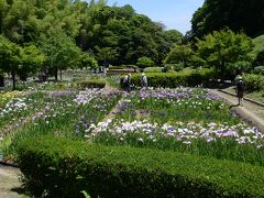
[[[201,38],[226,26],[234,32],[244,31],[250,36],[263,33],[264,1],[261,0],[206,0],[191,19],[190,37]]]

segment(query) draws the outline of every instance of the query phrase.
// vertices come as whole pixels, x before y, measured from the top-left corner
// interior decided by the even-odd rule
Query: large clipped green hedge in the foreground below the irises
[[[264,167],[158,150],[43,136],[19,144],[34,196],[263,197]]]

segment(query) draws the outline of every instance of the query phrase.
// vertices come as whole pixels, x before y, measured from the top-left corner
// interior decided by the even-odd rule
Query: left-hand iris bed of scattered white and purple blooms
[[[101,121],[120,96],[118,90],[86,89],[32,92],[10,100],[0,114],[1,148],[8,156],[21,139],[43,134],[82,139],[84,130]]]

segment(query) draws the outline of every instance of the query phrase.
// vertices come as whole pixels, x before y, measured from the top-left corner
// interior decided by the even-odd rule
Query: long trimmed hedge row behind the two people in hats
[[[195,87],[206,85],[209,79],[215,78],[216,74],[211,70],[201,70],[197,73],[147,73],[147,81],[150,87],[175,88],[179,86]],[[123,77],[120,79],[120,86],[123,88]],[[132,75],[131,84],[141,85],[141,74]]]

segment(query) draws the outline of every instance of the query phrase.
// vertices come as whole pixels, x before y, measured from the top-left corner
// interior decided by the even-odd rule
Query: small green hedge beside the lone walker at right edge
[[[248,91],[260,91],[264,90],[264,76],[255,74],[245,74],[243,79],[246,82]]]

